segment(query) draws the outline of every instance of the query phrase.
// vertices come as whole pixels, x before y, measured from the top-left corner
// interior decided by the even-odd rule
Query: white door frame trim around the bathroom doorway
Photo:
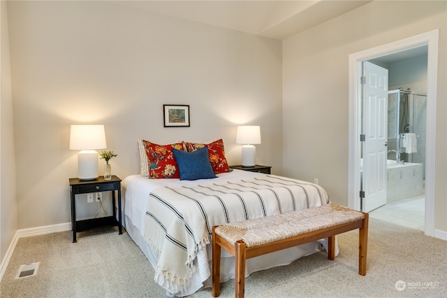
[[[434,235],[434,164],[436,139],[437,52],[439,31],[349,55],[349,207],[360,210],[360,76],[362,62],[427,46],[427,139],[425,152],[425,234]]]

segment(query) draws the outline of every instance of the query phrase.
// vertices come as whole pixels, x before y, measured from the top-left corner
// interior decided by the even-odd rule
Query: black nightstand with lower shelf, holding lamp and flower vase
[[[90,229],[101,229],[103,227],[118,226],[119,234],[122,232],[121,220],[121,179],[112,175],[112,179],[104,180],[99,176],[95,180],[80,180],[69,178],[71,192],[71,226],[73,227],[73,243],[76,241],[76,232],[88,231]],[[113,216],[103,218],[91,218],[89,220],[76,220],[76,194],[88,194],[90,192],[112,192]],[[115,191],[118,193],[118,220],[115,204]]]

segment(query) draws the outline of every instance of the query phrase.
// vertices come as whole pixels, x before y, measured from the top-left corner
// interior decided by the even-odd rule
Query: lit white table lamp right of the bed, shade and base
[[[242,146],[242,166],[254,166],[254,158],[256,155],[256,147],[254,144],[261,143],[261,128],[256,125],[238,126],[236,143],[244,144]]]

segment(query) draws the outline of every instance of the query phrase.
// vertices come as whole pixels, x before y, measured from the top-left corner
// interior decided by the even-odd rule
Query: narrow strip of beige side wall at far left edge
[[[13,98],[5,1],[0,1],[0,15],[0,262],[3,265],[3,259],[17,232]],[[0,267],[0,279],[4,269]]]

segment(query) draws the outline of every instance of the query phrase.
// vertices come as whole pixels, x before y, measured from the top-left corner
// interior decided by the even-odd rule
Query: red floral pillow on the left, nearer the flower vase
[[[142,143],[146,150],[149,178],[180,178],[173,148],[183,150],[182,143],[159,145],[144,140]]]

